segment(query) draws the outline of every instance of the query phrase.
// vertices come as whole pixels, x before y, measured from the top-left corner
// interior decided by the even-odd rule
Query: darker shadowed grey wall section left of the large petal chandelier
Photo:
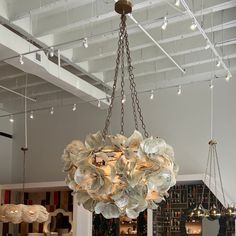
[[[63,180],[61,155],[73,139],[84,140],[86,134],[95,133],[104,125],[105,111],[83,104],[72,112],[71,107],[35,112],[28,121],[28,147],[26,179],[28,182]],[[13,145],[13,183],[22,180],[23,115],[15,117]]]

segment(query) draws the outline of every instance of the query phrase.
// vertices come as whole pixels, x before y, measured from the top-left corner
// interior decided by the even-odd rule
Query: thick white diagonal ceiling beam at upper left
[[[0,26],[0,45],[6,47],[9,51],[15,51],[18,54],[22,54],[29,49],[29,42],[3,26]],[[16,43],[17,42],[17,43]],[[34,50],[36,47],[30,45]],[[63,68],[59,68],[55,63],[48,60],[43,52],[40,52],[41,61],[36,59],[35,54],[29,54],[24,57],[24,65],[20,65],[19,59],[8,60],[7,63],[11,64],[29,74],[37,75],[50,83],[55,84],[58,87],[74,94],[75,96],[83,96],[83,99],[101,99],[106,96],[106,93],[80,79],[74,74],[66,71]],[[107,101],[103,101],[107,104]]]

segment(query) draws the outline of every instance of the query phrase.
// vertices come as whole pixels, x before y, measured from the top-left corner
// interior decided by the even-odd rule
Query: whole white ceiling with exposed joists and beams
[[[135,19],[186,70],[186,74],[183,75],[128,19],[134,74],[139,89],[147,90],[210,80],[213,74],[216,77],[227,75],[222,67],[215,67],[217,58],[212,55],[211,49],[204,49],[206,42],[200,32],[190,29],[192,20],[182,6],[176,7],[174,0],[136,0],[133,3]],[[236,1],[189,0],[187,4],[207,32],[226,66],[232,74],[235,74]],[[165,31],[161,29],[164,16],[168,19]],[[1,60],[40,47],[54,46],[55,51],[60,49],[63,70],[61,77],[56,76],[58,69],[53,66],[51,70],[47,70],[50,76],[45,75],[45,72],[38,73],[38,69],[35,72],[36,69],[32,70],[32,63],[36,63],[35,58],[30,58],[32,56],[30,54],[25,56],[26,64],[28,60],[30,61],[25,67],[21,67],[18,60],[5,60],[18,69],[7,67],[3,63],[2,68],[11,75],[8,78],[1,72],[0,83],[2,79],[4,83],[9,80],[6,86],[9,83],[10,88],[20,90],[23,85],[15,84],[15,81],[23,76],[23,72],[19,71],[22,69],[47,81],[44,84],[39,78],[34,80],[35,76],[32,75],[32,87],[36,90],[36,94],[45,92],[47,95],[48,90],[48,93],[53,94],[57,93],[57,90],[64,89],[66,95],[69,92],[73,94],[72,97],[78,96],[83,100],[101,99],[106,96],[114,76],[117,30],[120,21],[114,11],[113,0],[2,0],[0,20],[6,27],[4,30],[10,31],[9,37],[15,35],[14,43],[10,40],[0,42]],[[1,31],[3,34],[1,37],[8,34],[4,33],[6,32],[4,30]],[[22,40],[22,37],[30,39],[31,44],[25,39]],[[83,47],[82,40],[85,37],[88,38],[88,48]],[[41,54],[43,59],[46,57],[45,54],[47,53]],[[49,59],[50,62],[57,64],[57,51],[55,54],[55,57]],[[68,71],[70,73],[67,73]],[[48,82],[54,85],[50,86]]]

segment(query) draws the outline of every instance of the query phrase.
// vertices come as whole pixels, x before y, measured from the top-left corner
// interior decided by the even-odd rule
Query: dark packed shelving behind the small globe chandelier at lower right
[[[189,211],[195,208],[196,204],[201,201],[203,192],[203,183],[192,185],[176,185],[169,190],[169,198],[162,202],[157,210],[153,211],[153,235],[154,236],[180,236],[182,217],[188,215]],[[205,186],[203,196],[203,207],[207,208],[208,203],[216,202],[214,194]],[[222,206],[217,201],[219,206]],[[195,222],[201,226],[201,222]],[[201,228],[198,226],[198,235],[201,236]],[[191,230],[189,230],[191,231]],[[193,230],[194,231],[194,230]],[[183,232],[183,230],[182,230]],[[232,236],[235,232],[234,220],[227,221],[227,236]]]

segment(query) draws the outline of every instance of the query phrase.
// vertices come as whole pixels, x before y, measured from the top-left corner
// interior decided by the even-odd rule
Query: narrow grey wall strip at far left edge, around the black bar
[[[0,115],[6,113],[0,111]],[[0,118],[0,132],[12,134],[9,118]],[[11,182],[12,139],[0,136],[0,184]]]

